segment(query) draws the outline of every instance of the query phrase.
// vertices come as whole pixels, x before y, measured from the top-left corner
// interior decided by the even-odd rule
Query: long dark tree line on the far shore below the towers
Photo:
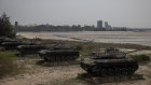
[[[81,25],[72,25],[72,26],[53,26],[53,25],[36,25],[36,26],[17,26],[15,27],[16,31],[126,31],[125,27],[114,27],[112,29],[101,28],[93,26],[81,26]]]

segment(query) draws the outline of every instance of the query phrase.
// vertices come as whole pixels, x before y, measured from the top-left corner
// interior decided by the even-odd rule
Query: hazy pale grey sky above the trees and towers
[[[151,27],[151,0],[0,0],[12,24]]]

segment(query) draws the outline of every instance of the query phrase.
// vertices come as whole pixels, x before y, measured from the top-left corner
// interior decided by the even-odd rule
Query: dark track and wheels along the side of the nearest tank
[[[133,75],[134,72],[138,69],[138,65],[136,62],[129,63],[102,63],[102,65],[94,65],[86,66],[81,63],[82,69],[84,69],[87,73],[95,76],[116,76],[116,75]]]

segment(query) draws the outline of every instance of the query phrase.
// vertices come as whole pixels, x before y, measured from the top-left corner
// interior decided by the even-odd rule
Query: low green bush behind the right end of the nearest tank
[[[133,58],[134,60],[136,60],[138,62],[143,62],[143,61],[149,61],[150,60],[150,57],[146,54],[132,55],[131,58]]]

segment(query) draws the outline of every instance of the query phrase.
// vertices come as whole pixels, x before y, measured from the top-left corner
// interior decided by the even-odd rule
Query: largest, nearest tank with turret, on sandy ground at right
[[[80,66],[87,73],[97,76],[132,75],[138,69],[138,63],[127,59],[126,54],[110,47],[105,52],[92,53],[92,58],[81,59]]]

